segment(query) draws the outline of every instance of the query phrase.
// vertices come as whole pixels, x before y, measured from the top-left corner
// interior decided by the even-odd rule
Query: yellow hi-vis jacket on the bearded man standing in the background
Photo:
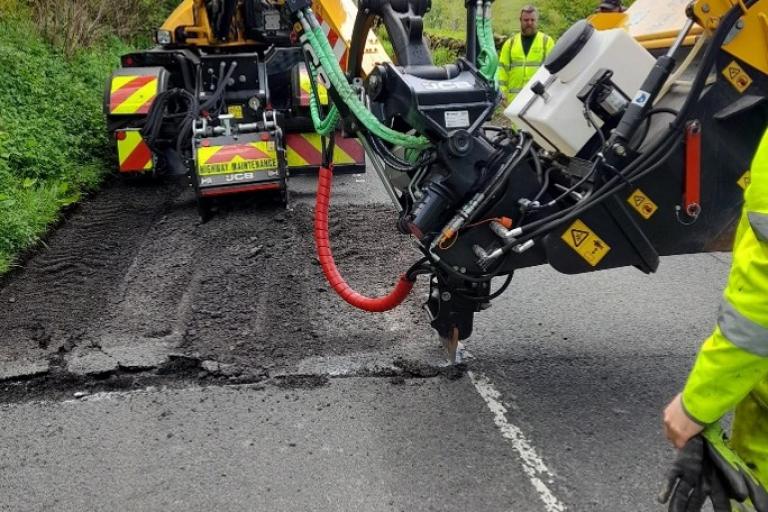
[[[515,99],[517,93],[547,58],[554,45],[555,41],[543,32],[536,32],[528,55],[523,51],[523,39],[519,33],[504,42],[499,55],[497,78],[499,87],[507,96],[507,101]]]

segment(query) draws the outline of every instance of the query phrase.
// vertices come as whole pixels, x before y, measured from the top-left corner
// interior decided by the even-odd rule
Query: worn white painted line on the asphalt
[[[528,476],[534,489],[539,495],[539,499],[544,503],[547,512],[564,512],[565,505],[552,494],[552,491],[544,483],[545,480],[551,482],[554,475],[547,468],[544,461],[536,453],[530,441],[526,439],[523,431],[519,427],[507,421],[507,408],[501,403],[501,393],[499,393],[488,378],[483,375],[477,375],[473,372],[467,372],[469,379],[475,386],[480,396],[485,400],[488,409],[493,413],[493,421],[501,431],[501,435],[507,439],[512,448],[515,449],[523,463],[523,471]]]

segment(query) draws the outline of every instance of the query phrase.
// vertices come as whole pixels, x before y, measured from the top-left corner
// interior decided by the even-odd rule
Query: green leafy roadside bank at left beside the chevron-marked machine
[[[0,274],[38,242],[62,207],[95,189],[114,168],[102,113],[104,85],[130,46],[109,35],[118,31],[103,10],[102,17],[91,16],[110,3],[0,0]],[[139,30],[141,23],[122,35],[134,43],[146,40],[148,27]]]

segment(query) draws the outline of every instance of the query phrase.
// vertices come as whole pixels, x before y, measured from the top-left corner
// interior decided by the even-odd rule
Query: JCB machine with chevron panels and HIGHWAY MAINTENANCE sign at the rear
[[[104,102],[121,173],[188,176],[205,218],[215,196],[274,190],[287,201],[289,176],[317,170],[312,82],[283,4],[184,0],[156,31],[154,48],[122,56]],[[355,5],[313,7],[346,68]],[[336,142],[336,171],[364,172],[358,140]]]

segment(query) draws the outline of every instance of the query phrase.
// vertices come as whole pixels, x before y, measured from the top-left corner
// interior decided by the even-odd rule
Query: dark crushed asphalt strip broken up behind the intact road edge
[[[384,204],[331,211],[336,263],[361,293],[387,293],[418,258],[391,229],[396,220]],[[329,293],[317,263],[308,204],[251,198],[200,223],[179,184],[112,180],[0,281],[0,399],[88,382],[251,383],[291,372],[279,385],[313,387],[328,376],[292,370],[308,358],[432,343],[420,308],[426,283],[398,309],[370,314]],[[371,376],[456,371],[391,359],[381,367]]]

